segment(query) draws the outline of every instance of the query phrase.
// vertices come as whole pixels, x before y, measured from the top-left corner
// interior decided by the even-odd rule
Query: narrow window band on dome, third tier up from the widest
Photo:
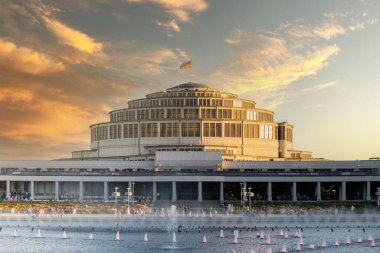
[[[255,108],[254,102],[233,99],[210,98],[164,98],[164,99],[140,99],[128,103],[128,108],[142,107],[169,107],[169,106],[225,106]]]

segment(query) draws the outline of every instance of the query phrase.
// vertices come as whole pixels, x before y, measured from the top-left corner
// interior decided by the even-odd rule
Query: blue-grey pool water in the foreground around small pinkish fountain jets
[[[14,236],[17,229],[18,236]],[[281,228],[291,235],[294,235],[298,228],[291,228],[289,231]],[[261,230],[261,228],[260,228]],[[62,239],[62,230],[41,229],[43,238],[36,238],[36,231],[28,227],[3,227],[0,231],[1,252],[237,252],[249,253],[254,250],[256,253],[266,253],[269,249],[272,252],[281,252],[286,247],[287,252],[295,252],[299,238],[289,236],[285,239],[280,236],[280,228],[262,228],[263,233],[271,238],[270,245],[266,244],[265,239],[257,237],[259,230],[239,231],[239,242],[233,244],[234,231],[225,229],[225,238],[220,238],[220,230],[215,229],[177,233],[175,244],[172,243],[172,232],[148,233],[149,242],[144,242],[146,231],[141,232],[120,232],[120,241],[115,239],[115,232],[93,232],[94,240],[89,240],[89,232],[67,231],[67,239]],[[235,232],[236,233],[236,232]],[[313,244],[313,252],[324,253],[371,253],[380,252],[380,248],[371,247],[367,240],[358,244],[359,237],[374,238],[376,244],[380,241],[379,228],[304,228],[302,239],[304,246],[300,252],[311,252],[309,246]],[[207,243],[202,243],[203,238],[207,238]],[[347,238],[351,239],[351,244],[345,244]],[[378,239],[377,239],[378,238]],[[340,242],[339,247],[334,247],[335,240]],[[326,242],[326,248],[322,248],[322,243]]]

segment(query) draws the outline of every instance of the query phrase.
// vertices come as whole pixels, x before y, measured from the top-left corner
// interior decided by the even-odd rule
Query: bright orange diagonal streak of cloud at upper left
[[[71,46],[81,52],[88,54],[102,54],[103,44],[96,42],[80,31],[77,31],[57,20],[45,17],[47,28],[65,45]]]

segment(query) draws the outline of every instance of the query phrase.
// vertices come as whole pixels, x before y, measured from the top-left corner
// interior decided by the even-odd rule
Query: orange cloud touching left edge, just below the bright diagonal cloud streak
[[[13,42],[0,38],[0,66],[28,74],[39,75],[62,71],[63,63],[26,47],[18,47]]]

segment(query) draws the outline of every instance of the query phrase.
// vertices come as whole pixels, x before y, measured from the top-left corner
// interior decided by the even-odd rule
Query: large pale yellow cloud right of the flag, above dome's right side
[[[260,46],[235,53],[231,63],[215,74],[225,83],[224,88],[244,93],[287,86],[315,75],[340,50],[333,45],[297,53],[283,38],[260,36],[260,39]]]

